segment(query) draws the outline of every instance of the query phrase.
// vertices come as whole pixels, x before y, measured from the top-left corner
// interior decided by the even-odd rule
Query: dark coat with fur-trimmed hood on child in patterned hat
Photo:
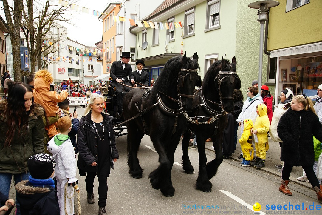
[[[55,189],[49,185],[34,187],[29,181],[15,185],[16,200],[20,203],[21,215],[58,215],[60,214]]]

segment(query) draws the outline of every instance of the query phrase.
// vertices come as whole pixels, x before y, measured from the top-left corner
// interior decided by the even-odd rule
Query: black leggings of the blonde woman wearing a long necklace
[[[94,179],[96,173],[95,172],[87,172],[87,176],[85,178],[86,182],[86,191],[88,193],[92,193],[94,190]],[[107,199],[107,176],[98,176],[99,180],[99,207],[106,206],[106,199]]]

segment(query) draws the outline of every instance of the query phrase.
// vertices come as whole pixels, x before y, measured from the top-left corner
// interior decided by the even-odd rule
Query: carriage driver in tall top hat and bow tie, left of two
[[[129,52],[122,52],[122,55],[120,56],[121,60],[114,61],[111,65],[110,69],[110,77],[113,79],[111,81],[112,87],[116,88],[116,94],[117,94],[117,101],[118,101],[118,114],[121,115],[123,112],[123,85],[118,83],[124,83],[125,85],[131,86],[129,79],[131,80],[131,83],[134,84],[134,76],[132,73],[132,66],[128,64],[130,60],[130,53]],[[127,86],[124,86],[124,91],[128,92],[132,90],[132,88],[129,88]]]

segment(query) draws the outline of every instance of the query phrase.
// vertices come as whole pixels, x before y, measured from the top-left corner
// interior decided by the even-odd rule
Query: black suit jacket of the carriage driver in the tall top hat
[[[113,79],[113,82],[115,82],[117,78],[123,78],[125,81],[129,81],[128,77],[130,80],[134,79],[132,66],[130,64],[125,64],[125,67],[123,69],[121,61],[114,61],[112,63],[109,76]]]

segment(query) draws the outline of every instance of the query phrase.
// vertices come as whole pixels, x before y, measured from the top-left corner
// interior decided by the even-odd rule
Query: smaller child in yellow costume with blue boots
[[[253,128],[253,121],[250,119],[244,120],[244,131],[242,132],[242,137],[239,139],[239,143],[242,147],[242,153],[244,158],[239,165],[250,166],[250,161],[254,158],[254,150],[252,145],[252,134],[251,129]],[[251,154],[250,154],[251,152]]]

